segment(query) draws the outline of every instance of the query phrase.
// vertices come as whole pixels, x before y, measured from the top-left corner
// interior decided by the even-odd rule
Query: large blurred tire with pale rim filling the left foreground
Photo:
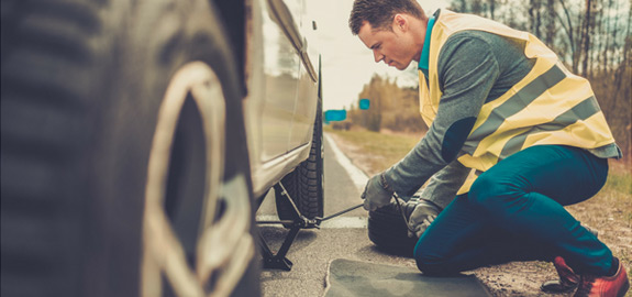
[[[1,3],[1,295],[260,295],[212,2]]]

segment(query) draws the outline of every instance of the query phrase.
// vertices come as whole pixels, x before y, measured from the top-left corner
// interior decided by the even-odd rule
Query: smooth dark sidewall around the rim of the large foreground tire
[[[221,80],[226,98],[225,160],[231,161],[225,164],[224,180],[245,175],[252,193],[234,58],[209,2],[145,0],[121,10],[125,8],[129,11],[118,12],[125,15],[121,23],[107,25],[113,63],[104,65],[109,69],[103,73],[111,84],[102,85],[107,96],[95,112],[98,132],[89,178],[96,231],[89,237],[89,257],[102,263],[86,267],[92,276],[86,283],[101,282],[102,296],[140,294],[148,155],[166,88],[187,63],[206,63]],[[86,292],[95,294],[90,288]]]

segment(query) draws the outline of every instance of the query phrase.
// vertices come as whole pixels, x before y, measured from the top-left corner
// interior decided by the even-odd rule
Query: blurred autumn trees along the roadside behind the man
[[[631,0],[453,0],[450,10],[489,18],[530,32],[548,45],[574,74],[590,80],[624,156],[632,157]],[[372,131],[418,132],[418,87],[374,76],[358,95],[369,110],[348,110],[354,124]]]

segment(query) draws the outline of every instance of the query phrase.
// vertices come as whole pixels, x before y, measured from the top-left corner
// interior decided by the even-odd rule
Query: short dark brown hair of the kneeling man
[[[415,0],[355,0],[348,16],[348,28],[357,35],[366,21],[374,30],[392,30],[392,19],[398,13],[408,13],[420,20],[428,19]]]

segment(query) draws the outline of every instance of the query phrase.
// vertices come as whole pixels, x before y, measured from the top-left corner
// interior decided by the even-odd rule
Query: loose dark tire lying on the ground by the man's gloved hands
[[[400,200],[403,215],[410,218],[417,202]],[[368,238],[387,253],[412,256],[417,238],[408,237],[408,227],[402,213],[393,200],[390,205],[368,212]]]

